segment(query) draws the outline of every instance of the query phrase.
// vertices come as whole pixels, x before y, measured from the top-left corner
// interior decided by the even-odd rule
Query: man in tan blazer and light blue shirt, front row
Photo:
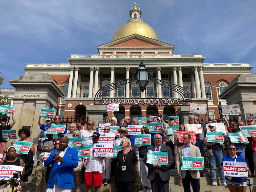
[[[193,192],[200,192],[200,173],[198,170],[181,170],[182,156],[186,157],[201,157],[200,149],[192,145],[191,135],[185,133],[183,135],[184,145],[179,147],[176,156],[176,165],[179,179],[182,179],[184,192],[190,192],[190,183],[192,184]]]

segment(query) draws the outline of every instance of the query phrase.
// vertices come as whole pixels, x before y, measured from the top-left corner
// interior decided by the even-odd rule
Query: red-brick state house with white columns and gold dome
[[[239,74],[250,74],[253,67],[249,63],[203,63],[202,54],[174,54],[175,46],[160,41],[141,15],[135,3],[130,19],[114,33],[111,42],[97,47],[99,54],[71,55],[67,64],[27,64],[25,73],[49,74],[64,93],[58,113],[84,118],[86,106],[94,104],[97,91],[133,77],[142,60],[152,77],[183,87],[193,103],[208,104],[209,118],[219,118],[217,105],[219,101],[226,104],[219,95]],[[105,94],[102,104],[120,103],[120,111],[115,113],[120,121],[127,115],[176,115],[182,105],[179,98],[178,92],[152,81],[141,92],[134,80]],[[144,100],[143,105],[138,99]],[[158,106],[158,99],[163,105]]]

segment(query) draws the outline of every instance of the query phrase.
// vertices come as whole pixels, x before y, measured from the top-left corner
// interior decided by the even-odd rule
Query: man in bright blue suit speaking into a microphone
[[[68,147],[68,137],[60,138],[60,149],[52,151],[44,166],[52,165],[46,192],[71,192],[74,188],[74,171],[78,165],[78,152]]]

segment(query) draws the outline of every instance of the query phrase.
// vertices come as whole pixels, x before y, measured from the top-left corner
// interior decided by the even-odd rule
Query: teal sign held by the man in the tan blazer
[[[186,157],[182,156],[181,170],[203,170],[204,157]]]

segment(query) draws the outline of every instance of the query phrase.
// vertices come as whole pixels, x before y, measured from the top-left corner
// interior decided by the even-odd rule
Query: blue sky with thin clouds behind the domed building
[[[174,54],[256,65],[255,0],[2,0],[0,88],[13,88],[8,80],[23,76],[27,63],[69,63],[71,54],[98,54],[97,46],[129,20],[134,2],[160,41],[175,45]]]

